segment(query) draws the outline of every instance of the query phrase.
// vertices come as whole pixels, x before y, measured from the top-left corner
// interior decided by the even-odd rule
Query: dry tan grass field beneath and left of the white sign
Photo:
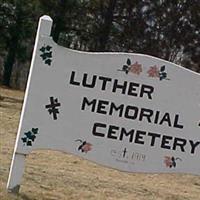
[[[7,193],[23,96],[0,87],[0,200],[200,200],[200,176],[129,174],[54,151],[27,156],[20,193]]]

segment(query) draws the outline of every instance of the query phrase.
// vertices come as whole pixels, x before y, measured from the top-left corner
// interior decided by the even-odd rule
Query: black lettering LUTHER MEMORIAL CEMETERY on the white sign
[[[100,90],[111,89],[110,92],[125,94],[134,97],[147,98],[153,100],[154,87],[150,85],[139,84],[135,82],[127,82],[119,84],[117,79],[103,77],[87,73],[83,74],[82,80],[75,79],[75,71],[72,71],[70,84],[80,87],[97,89],[96,82],[100,82]],[[159,110],[151,110],[149,108],[139,108],[135,105],[117,105],[114,102],[101,99],[88,99],[83,97],[81,110],[94,112],[114,117],[122,117],[127,120],[145,121],[158,125],[165,125],[172,128],[183,129],[183,124],[179,122],[179,114],[162,113]],[[95,122],[92,128],[92,134],[98,137],[107,137],[113,140],[125,140],[130,143],[158,146],[163,149],[180,150],[185,152],[186,149],[191,154],[196,153],[197,147],[200,148],[200,141],[187,140],[184,138],[162,135],[161,133],[148,132],[144,130],[127,129],[117,125],[107,125],[101,122]],[[188,148],[186,148],[188,146]]]

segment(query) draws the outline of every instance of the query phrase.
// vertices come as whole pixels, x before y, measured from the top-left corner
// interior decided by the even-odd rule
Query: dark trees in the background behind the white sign
[[[2,83],[30,62],[38,19],[58,44],[82,51],[156,56],[200,72],[199,0],[0,0]]]

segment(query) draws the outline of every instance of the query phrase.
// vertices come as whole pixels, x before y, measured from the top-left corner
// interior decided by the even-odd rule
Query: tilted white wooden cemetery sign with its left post
[[[155,57],[57,45],[40,18],[8,189],[25,156],[69,152],[126,172],[200,175],[200,75]]]

